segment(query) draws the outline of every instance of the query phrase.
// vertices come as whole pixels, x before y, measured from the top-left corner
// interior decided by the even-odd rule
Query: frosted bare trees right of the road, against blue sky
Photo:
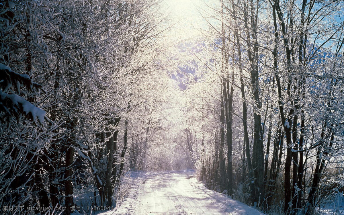
[[[214,128],[195,155],[208,187],[267,213],[282,203],[286,214],[313,214],[341,191],[331,180],[343,170],[342,6],[204,2],[204,50],[189,55],[213,87],[196,107]]]

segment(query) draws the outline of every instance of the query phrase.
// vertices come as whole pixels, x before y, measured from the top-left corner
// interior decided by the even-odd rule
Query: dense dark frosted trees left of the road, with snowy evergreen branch
[[[157,8],[140,0],[0,2],[3,213],[71,214],[91,194],[88,206],[116,206],[128,115],[142,102],[142,76],[158,68]]]

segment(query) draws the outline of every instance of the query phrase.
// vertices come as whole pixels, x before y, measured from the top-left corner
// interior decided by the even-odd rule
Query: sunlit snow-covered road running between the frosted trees
[[[128,198],[117,214],[232,214],[260,215],[254,208],[206,189],[194,171],[136,173]]]

